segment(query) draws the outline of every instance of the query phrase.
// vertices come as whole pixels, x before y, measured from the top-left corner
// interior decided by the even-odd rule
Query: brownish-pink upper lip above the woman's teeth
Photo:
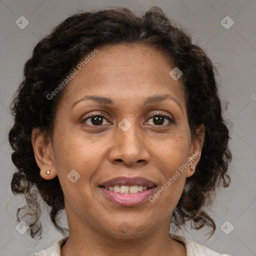
[[[143,177],[116,177],[109,179],[107,181],[104,181],[99,186],[132,186],[132,185],[142,185],[147,187],[153,187],[155,186],[155,182],[143,178]]]

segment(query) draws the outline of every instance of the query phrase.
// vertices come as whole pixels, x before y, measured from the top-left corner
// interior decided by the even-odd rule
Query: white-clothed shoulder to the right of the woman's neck
[[[228,254],[220,254],[181,235],[172,233],[169,235],[171,238],[181,241],[185,245],[187,256],[193,256],[195,253],[200,256],[231,256]]]

